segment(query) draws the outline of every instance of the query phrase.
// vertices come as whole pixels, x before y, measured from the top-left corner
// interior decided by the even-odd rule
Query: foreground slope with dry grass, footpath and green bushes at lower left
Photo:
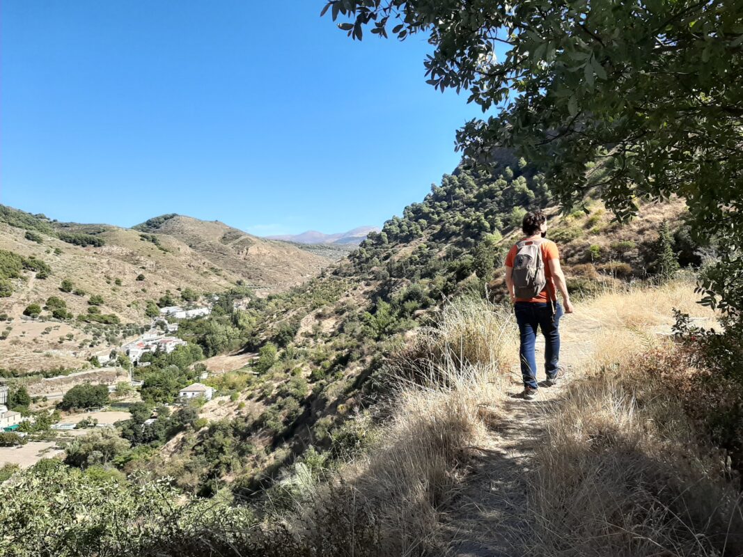
[[[392,354],[389,398],[350,417],[349,452],[305,455],[262,503],[184,500],[140,478],[137,492],[111,486],[124,512],[109,492],[96,503],[103,492],[74,469],[47,465],[0,488],[13,489],[3,543],[25,524],[26,553],[13,555],[48,539],[59,555],[743,555],[739,478],[671,388],[671,375],[698,372],[668,335],[672,308],[713,319],[688,281],[580,302],[561,325],[568,377],[529,403],[516,397],[510,313],[448,304]],[[51,519],[49,489],[67,489],[65,508],[85,502],[85,520]],[[69,551],[65,540],[92,532],[94,545]]]

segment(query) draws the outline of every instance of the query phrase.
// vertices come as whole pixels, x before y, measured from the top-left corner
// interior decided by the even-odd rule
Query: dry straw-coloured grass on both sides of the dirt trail
[[[569,350],[583,351],[573,355],[579,378],[536,417],[548,426],[531,469],[521,472],[528,519],[509,535],[520,543],[513,555],[743,554],[741,501],[724,462],[700,444],[660,376],[643,372],[643,355],[666,342],[652,330],[669,328],[672,307],[703,313],[691,291],[679,281],[607,292],[570,318],[564,338]],[[302,512],[285,516],[291,531],[311,544],[333,536],[327,555],[444,554],[441,511],[468,481],[469,449],[497,443],[482,403],[500,412],[496,421],[513,420],[504,370],[515,353],[510,315],[480,301],[447,307],[438,328],[421,330],[412,348],[390,358],[395,396],[379,441],[309,489]],[[360,539],[373,544],[359,547]]]

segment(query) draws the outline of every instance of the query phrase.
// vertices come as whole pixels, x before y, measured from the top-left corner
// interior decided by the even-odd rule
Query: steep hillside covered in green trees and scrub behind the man
[[[394,363],[389,354],[415,338],[421,325],[435,322],[447,300],[486,291],[502,300],[498,271],[519,233],[522,206],[549,203],[542,178],[524,165],[503,166],[495,180],[458,169],[321,276],[253,299],[233,316],[210,318],[230,338],[244,339],[259,359],[207,380],[223,395],[204,406],[212,425],[178,435],[141,466],[167,470],[186,490],[208,494],[231,485],[246,495],[309,446],[343,452],[336,444],[349,418],[389,396],[383,377]],[[684,244],[679,201],[647,204],[623,225],[590,198],[585,211],[548,210],[549,235],[561,246],[577,299],[652,277],[661,221],[680,227],[674,240],[679,251],[697,249]],[[204,328],[186,330],[203,342],[198,335]],[[415,343],[410,351],[415,354]],[[204,451],[215,436],[222,443],[225,431],[233,459],[216,472]],[[194,470],[201,472],[186,473]]]

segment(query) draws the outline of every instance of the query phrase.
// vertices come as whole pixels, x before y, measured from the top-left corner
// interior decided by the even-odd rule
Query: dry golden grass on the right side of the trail
[[[678,282],[608,294],[585,308],[603,316],[604,330],[585,362],[586,377],[568,385],[558,410],[545,416],[545,440],[529,476],[530,553],[743,555],[739,483],[695,431],[663,374],[649,373],[651,354],[677,350],[657,334],[672,307],[712,316],[691,293],[690,284]]]

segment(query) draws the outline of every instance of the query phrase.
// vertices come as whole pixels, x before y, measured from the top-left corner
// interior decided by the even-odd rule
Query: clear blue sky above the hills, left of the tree
[[[426,84],[424,37],[353,42],[323,5],[2,0],[0,203],[257,235],[399,215],[480,111]]]

